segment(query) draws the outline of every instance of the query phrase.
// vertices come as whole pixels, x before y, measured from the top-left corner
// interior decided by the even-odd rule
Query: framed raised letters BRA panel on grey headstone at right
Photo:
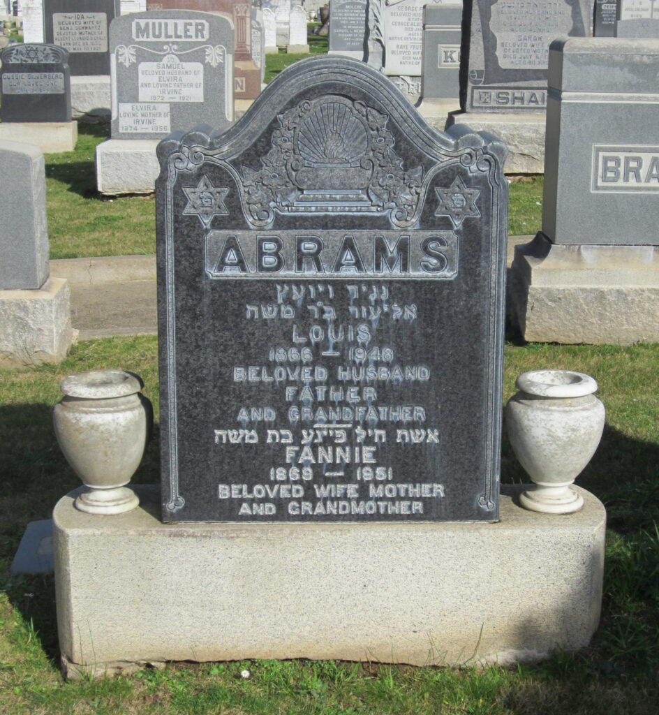
[[[591,191],[659,193],[659,147],[594,144]]]

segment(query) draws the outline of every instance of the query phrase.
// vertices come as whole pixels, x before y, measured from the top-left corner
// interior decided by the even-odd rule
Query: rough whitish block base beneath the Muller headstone
[[[159,139],[108,139],[96,147],[96,186],[101,194],[150,194],[160,165]]]

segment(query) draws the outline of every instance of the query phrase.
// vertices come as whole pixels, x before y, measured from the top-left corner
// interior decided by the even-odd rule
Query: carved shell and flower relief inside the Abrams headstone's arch
[[[419,204],[423,169],[405,169],[387,114],[363,102],[326,96],[305,100],[277,119],[261,168],[241,167],[252,222],[272,220],[273,209],[391,211],[394,223],[410,220]]]

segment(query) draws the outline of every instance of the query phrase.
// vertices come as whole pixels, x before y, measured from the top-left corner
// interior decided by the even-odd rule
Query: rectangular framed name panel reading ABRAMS
[[[211,231],[209,278],[377,277],[452,280],[458,270],[452,231]]]

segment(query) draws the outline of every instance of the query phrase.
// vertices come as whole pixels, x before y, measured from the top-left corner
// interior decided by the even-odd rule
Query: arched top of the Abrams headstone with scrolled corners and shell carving
[[[210,154],[234,177],[252,227],[278,215],[355,212],[412,227],[437,172],[461,164],[500,182],[505,146],[466,127],[438,132],[377,70],[323,57],[282,72],[226,132],[174,134],[159,145],[170,174]]]

